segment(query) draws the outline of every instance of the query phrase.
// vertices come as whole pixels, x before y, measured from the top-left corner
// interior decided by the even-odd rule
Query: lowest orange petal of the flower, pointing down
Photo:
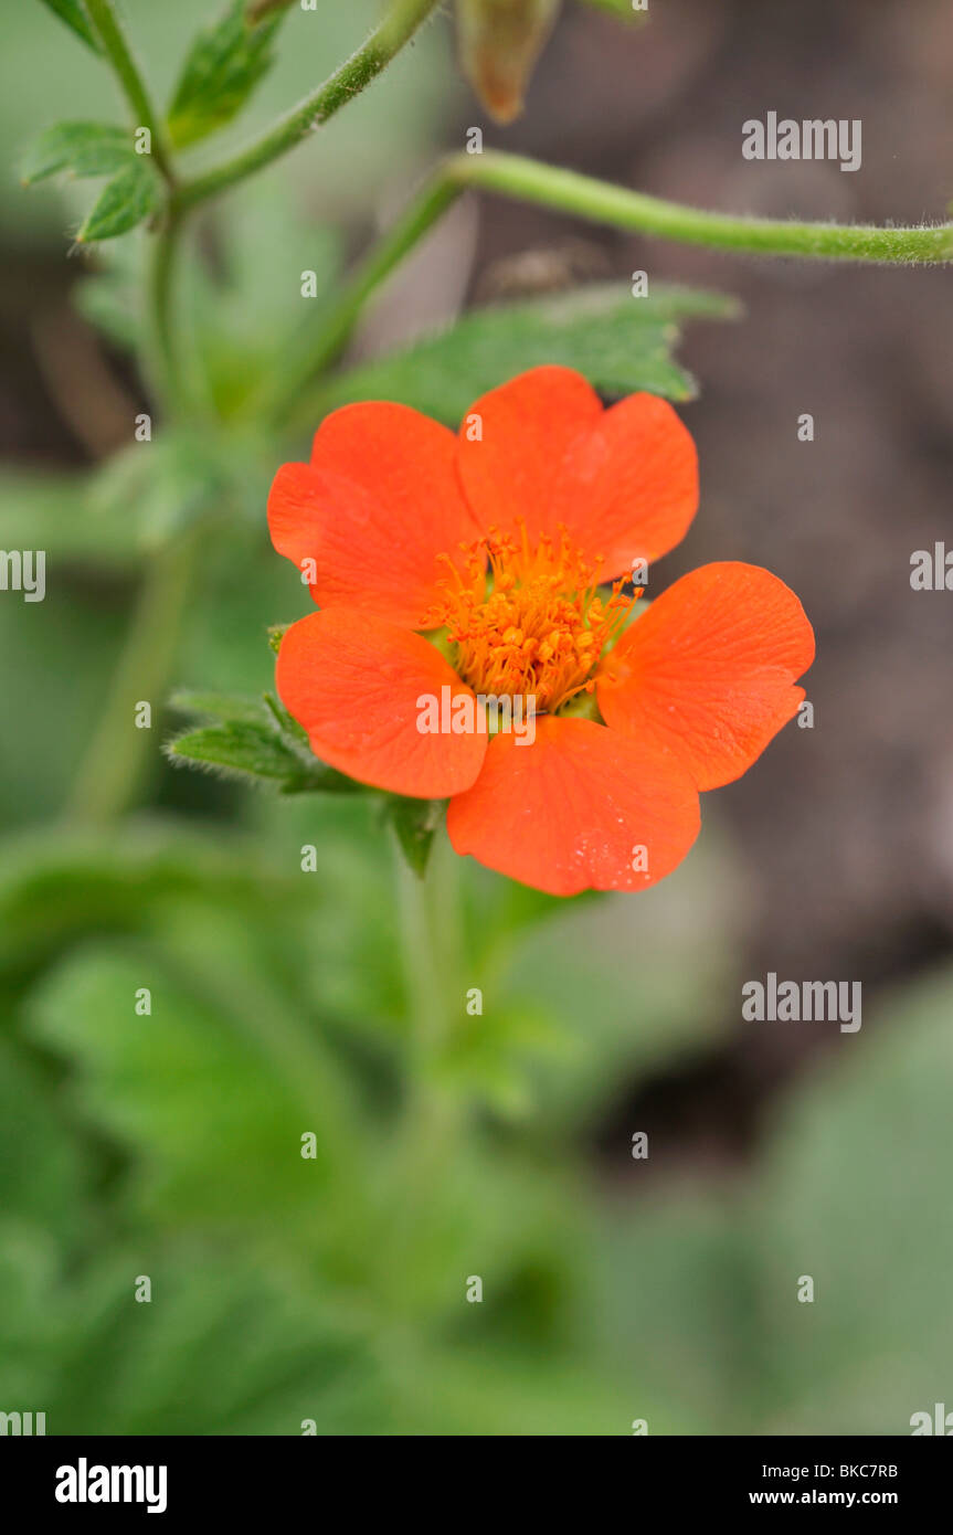
[[[496,735],[477,781],[447,810],[459,853],[551,895],[655,884],[698,826],[698,794],[678,755],[554,715],[537,718],[533,744]]]

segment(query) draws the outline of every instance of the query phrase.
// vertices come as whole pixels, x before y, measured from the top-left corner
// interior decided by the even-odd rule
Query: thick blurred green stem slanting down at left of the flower
[[[157,718],[178,651],[198,554],[198,534],[166,545],[143,579],[109,698],[83,757],[68,804],[71,820],[106,824],[134,801],[147,752],[158,757]],[[135,708],[152,706],[152,728],[138,729]]]

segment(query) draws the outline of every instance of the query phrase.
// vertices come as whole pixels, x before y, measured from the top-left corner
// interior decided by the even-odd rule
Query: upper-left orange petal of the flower
[[[420,628],[460,542],[479,530],[460,491],[456,437],[408,405],[344,405],[324,419],[310,464],[284,464],[269,496],[272,543],[313,560],[315,602]]]

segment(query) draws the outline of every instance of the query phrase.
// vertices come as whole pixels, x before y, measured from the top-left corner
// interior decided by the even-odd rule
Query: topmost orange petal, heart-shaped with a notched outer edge
[[[562,367],[531,368],[471,405],[460,477],[483,531],[525,517],[531,537],[556,536],[563,523],[588,559],[603,556],[603,579],[666,554],[698,507],[695,444],[668,401],[629,394],[603,410]]]

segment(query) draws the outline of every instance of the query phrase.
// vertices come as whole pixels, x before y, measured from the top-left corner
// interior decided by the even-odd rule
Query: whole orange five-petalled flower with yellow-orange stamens
[[[459,436],[405,405],[336,410],[269,497],[319,605],[281,642],[278,692],[325,763],[450,798],[459,853],[554,895],[654,884],[698,834],[698,791],[750,768],[813,660],[801,603],[755,565],[704,565],[632,614],[634,562],[697,503],[672,407],[603,410],[569,368],[491,390]],[[486,729],[493,698],[511,728]]]

